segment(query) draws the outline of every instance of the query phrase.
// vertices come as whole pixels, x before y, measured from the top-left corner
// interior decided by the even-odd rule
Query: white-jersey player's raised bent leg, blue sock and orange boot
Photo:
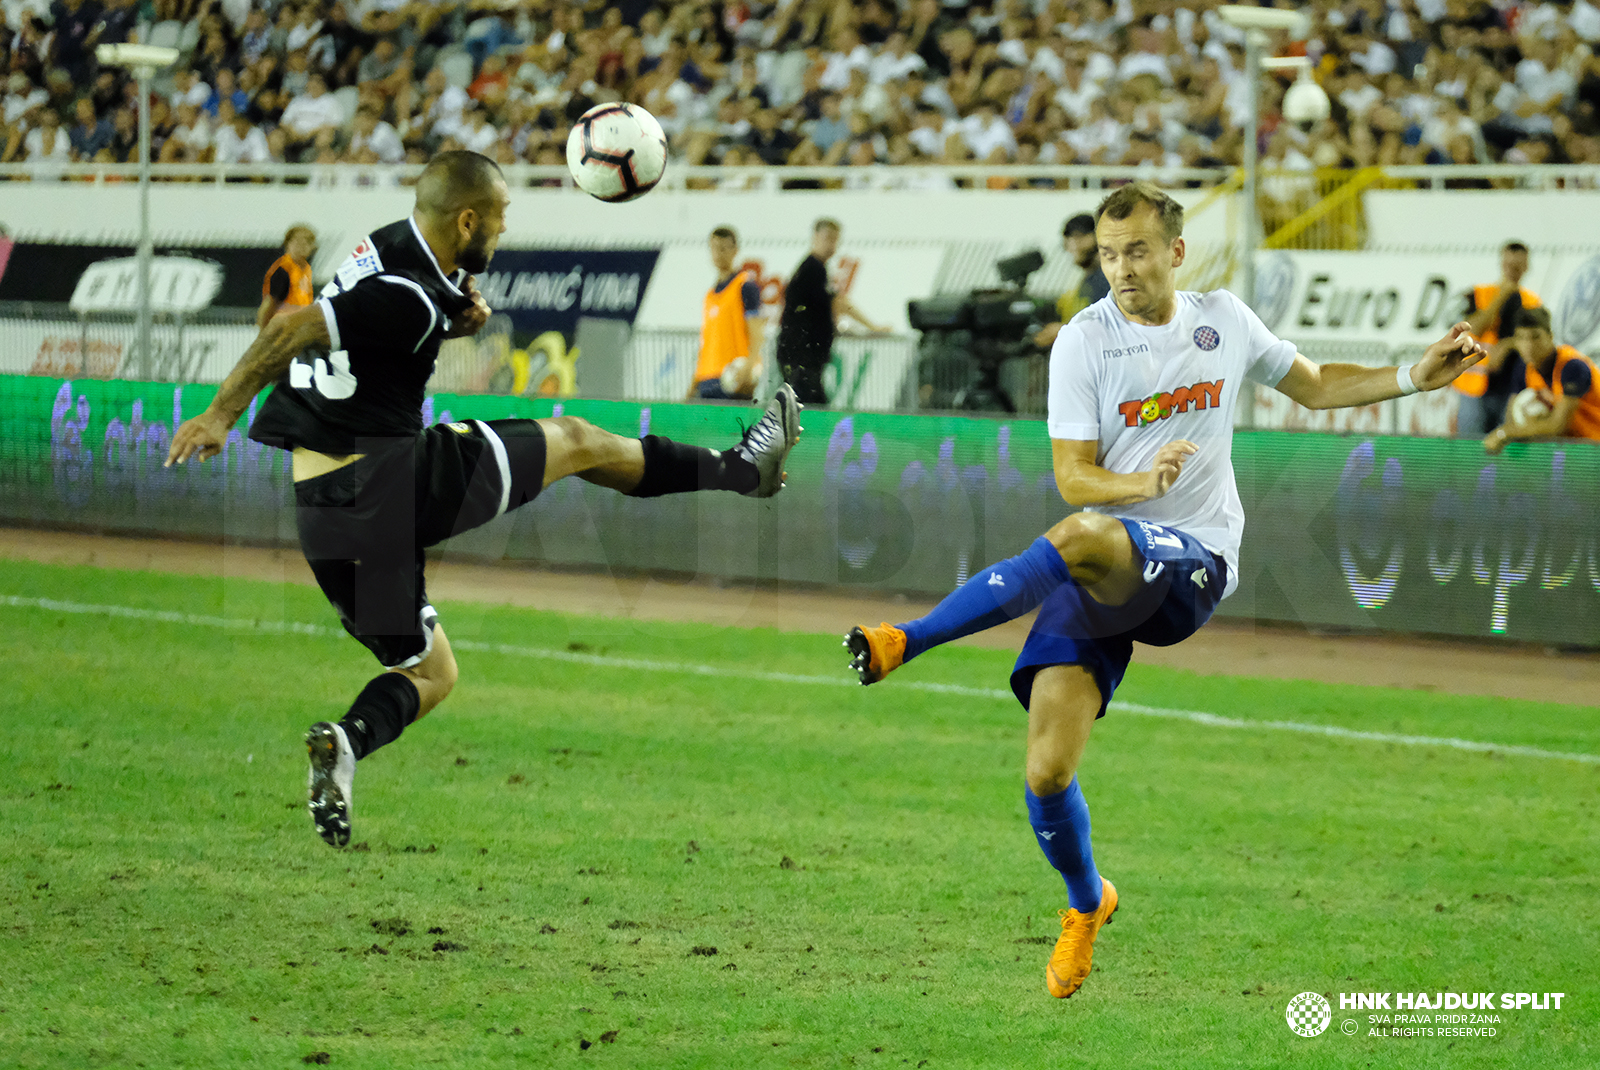
[[[1067,582],[1096,601],[1122,605],[1138,590],[1139,566],[1120,520],[1074,513],[1022,553],[981,569],[928,616],[898,627],[851,629],[845,635],[850,667],[861,683],[877,683],[923,651],[1027,614]]]

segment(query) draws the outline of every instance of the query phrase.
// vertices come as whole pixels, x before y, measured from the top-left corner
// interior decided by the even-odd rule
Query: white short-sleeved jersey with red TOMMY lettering
[[[1146,472],[1155,451],[1187,438],[1198,451],[1165,496],[1093,512],[1187,531],[1227,561],[1238,587],[1245,509],[1234,483],[1234,408],[1245,379],[1277,385],[1294,363],[1243,301],[1226,289],[1178,291],[1171,321],[1131,323],[1106,296],[1061,328],[1050,350],[1050,437],[1098,441],[1109,472]]]

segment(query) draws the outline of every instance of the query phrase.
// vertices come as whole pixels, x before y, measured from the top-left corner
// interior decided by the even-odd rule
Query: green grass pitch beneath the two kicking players
[[[3,576],[334,624],[299,587]],[[306,816],[301,733],[373,675],[352,640],[0,606],[0,1065],[1600,1062],[1600,766],[1114,712],[1082,779],[1122,910],[1056,1001],[1066,894],[1026,822],[1024,715],[901,686],[1003,688],[1008,654],[760,681],[842,677],[837,637],[442,609],[458,641],[746,675],[464,649],[456,694],[362,763],[365,848],[341,852]],[[1600,753],[1570,705],[1138,665],[1120,697]],[[1494,1038],[1374,1038],[1336,1009],[1304,1040],[1304,990],[1568,995]]]

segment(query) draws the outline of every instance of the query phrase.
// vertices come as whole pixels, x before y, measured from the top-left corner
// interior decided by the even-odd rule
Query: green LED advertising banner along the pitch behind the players
[[[0,377],[0,520],[291,544],[286,454],[235,430],[216,461],[162,467],[173,429],[213,393]],[[424,416],[562,413],[709,446],[754,416],[445,393]],[[646,501],[563,480],[440,552],[941,595],[1069,512],[1043,421],[808,411],[805,425],[776,499]],[[1248,525],[1221,616],[1600,648],[1600,449],[1587,443],[1486,457],[1475,441],[1242,432],[1234,469]]]

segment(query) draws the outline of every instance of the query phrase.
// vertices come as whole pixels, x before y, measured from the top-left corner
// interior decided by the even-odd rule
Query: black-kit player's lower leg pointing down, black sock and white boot
[[[331,848],[350,843],[355,763],[392,744],[408,725],[445,701],[456,685],[456,657],[445,630],[434,625],[427,657],[374,677],[355,696],[339,723],[318,721],[306,733],[310,774],[306,782],[310,820]]]

